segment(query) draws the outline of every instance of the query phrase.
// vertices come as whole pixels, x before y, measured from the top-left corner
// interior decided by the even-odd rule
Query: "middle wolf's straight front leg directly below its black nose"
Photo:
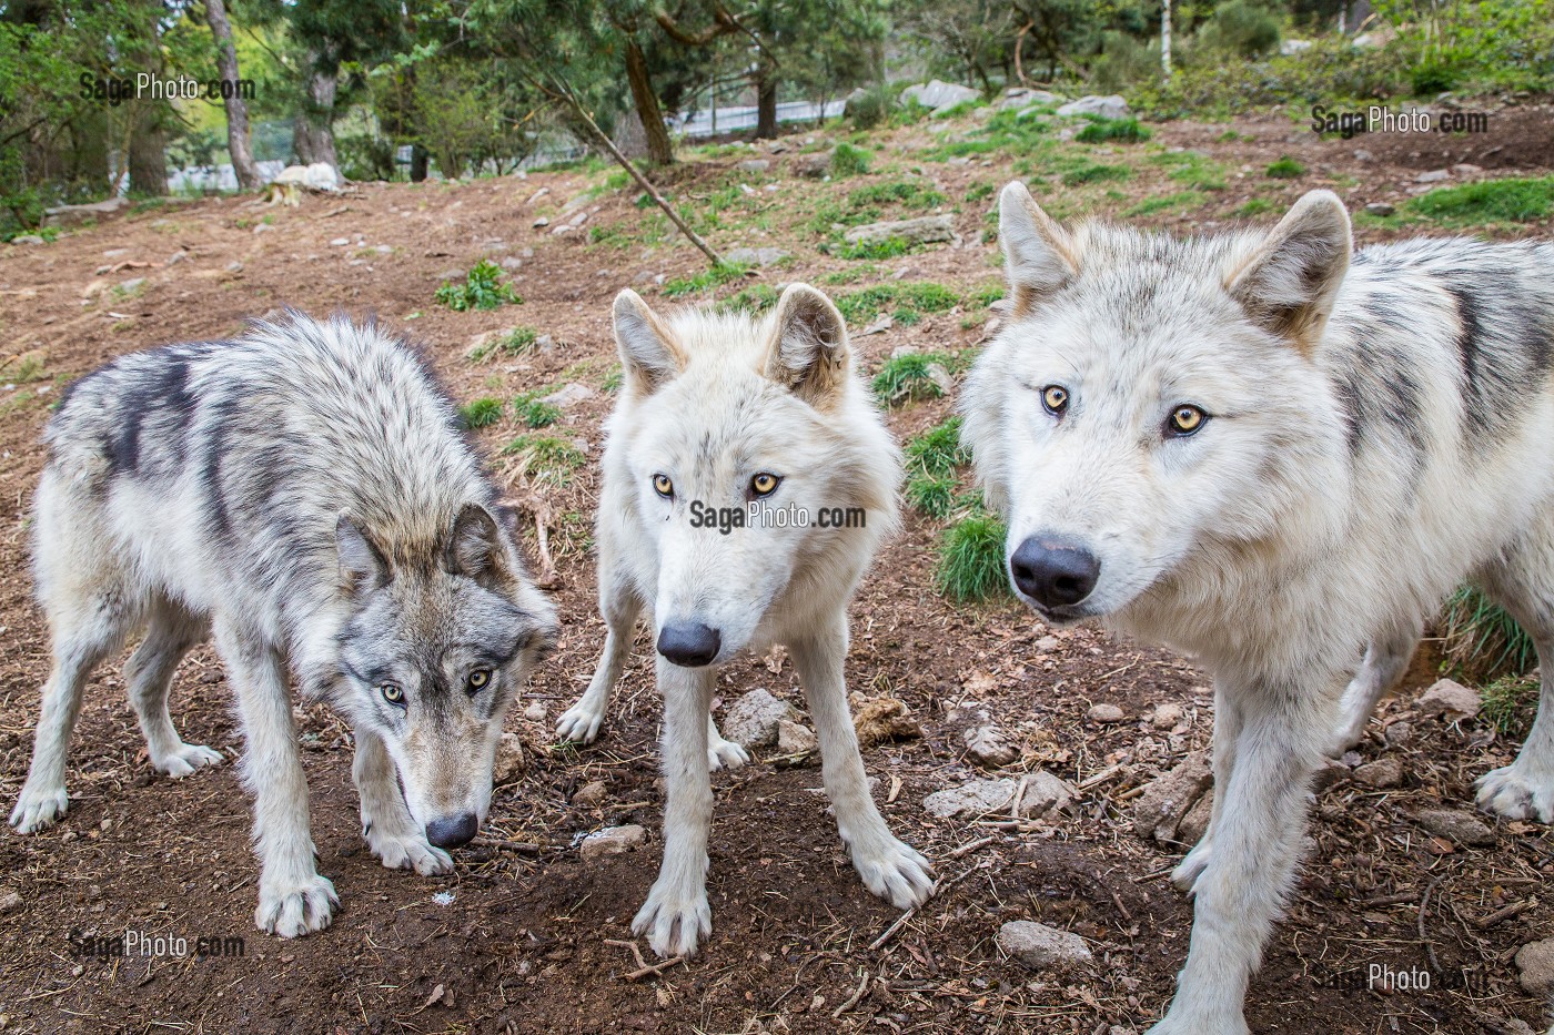
[[[664,693],[664,867],[648,901],[631,922],[659,956],[692,956],[712,934],[707,904],[707,830],[712,780],[707,775],[707,713],[718,670],[681,668],[657,659]]]

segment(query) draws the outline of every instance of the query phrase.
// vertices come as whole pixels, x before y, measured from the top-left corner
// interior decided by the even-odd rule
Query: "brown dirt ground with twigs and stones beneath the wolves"
[[[949,132],[973,129],[967,121]],[[1147,154],[1187,148],[1226,172],[1225,188],[1203,204],[1136,219],[1178,232],[1228,225],[1254,197],[1271,202],[1271,213],[1260,218],[1271,221],[1299,193],[1321,185],[1340,190],[1358,210],[1406,199],[1425,169],[1469,162],[1484,172],[1453,176],[1476,179],[1546,176],[1554,168],[1546,104],[1497,109],[1481,138],[1324,141],[1299,112],[1153,129]],[[999,186],[1018,155],[918,162],[915,151],[932,138],[926,127],[908,127],[875,145],[881,165],[870,176],[819,183],[788,174],[799,152],[825,140],[825,131],[799,132],[779,154],[693,155],[667,179],[688,205],[746,182],[751,193],[741,197],[751,200],[738,210],[743,222],[730,216],[707,235],[721,249],[791,252],[788,266],[758,278],[777,284],[821,281],[861,266],[817,250],[819,236],[808,228],[817,199],[915,176],[949,199],[946,210],[956,211],[962,239],[880,261],[859,283],[934,280],[970,295],[996,280],[995,249],[982,242],[991,199],[962,199],[979,185]],[[1267,163],[1285,154],[1305,174],[1265,177]],[[752,157],[772,165],[749,176],[735,168]],[[1068,200],[1075,210],[1120,214],[1141,199],[1179,190],[1164,177],[1166,166],[1144,163],[1120,188],[1086,186]],[[0,833],[0,903],[19,895],[0,904],[0,1029],[1106,1035],[1119,1030],[1113,1026],[1142,1032],[1159,1016],[1186,954],[1192,912],[1164,880],[1179,849],[1142,839],[1131,808],[1158,772],[1207,746],[1206,679],[1161,650],[1089,629],[1054,632],[1012,603],[948,603],[932,589],[940,525],[917,514],[908,516],[853,603],[847,673],[864,698],[897,698],[922,724],[922,737],[867,749],[866,765],[880,777],[876,796],[894,828],[936,859],[942,892],[894,928],[900,914],[861,887],[841,853],[817,793],[816,763],[758,758],[715,777],[713,936],[706,953],[657,974],[632,976],[642,964],[623,942],[632,939],[629,920],[662,847],[659,706],[645,639],[597,744],[561,748],[552,730],[586,685],[603,640],[587,522],[601,420],[611,404],[609,301],[620,288],[636,286],[650,303],[671,305],[660,297],[657,277],[684,277],[701,263],[670,238],[643,244],[632,236],[650,216],[632,204],[631,191],[603,190],[566,208],[603,182],[605,172],[569,171],[462,185],[359,185],[343,197],[303,197],[297,208],[204,199],[107,219],[45,246],[0,247],[3,351],[14,357],[45,350],[36,356],[42,368],[34,362],[26,370],[31,381],[0,393],[0,800],[6,810],[26,772],[37,688],[48,670],[47,631],[26,570],[26,508],[42,462],[37,435],[65,381],[123,351],[228,336],[246,317],[295,306],[376,314],[424,342],[462,399],[507,399],[566,382],[592,389],[555,429],[586,448],[589,462],[563,486],[513,485],[514,494],[539,493],[553,510],[550,549],[559,575],[553,592],[564,634],[510,720],[527,746],[527,765],[497,789],[482,839],[455,853],[457,870],[434,880],[378,864],[357,830],[348,730],[323,710],[300,712],[319,864],[343,908],[325,932],[297,942],[261,936],[252,920],[258,867],[249,847],[249,802],[235,766],[182,782],[155,774],[123,696],[121,667],[104,668],[76,727],[68,817],[36,836]],[[768,183],[777,190],[768,191]],[[542,188],[549,194],[533,199]],[[1060,190],[1049,183],[1038,196]],[[553,233],[577,211],[587,213],[580,228]],[[533,227],[538,216],[549,225]],[[597,228],[605,233],[589,241]],[[1391,233],[1358,227],[1361,242]],[[1549,225],[1490,233],[1546,238]],[[507,272],[524,305],[488,312],[435,305],[444,277],[462,275],[480,258],[510,260]],[[134,284],[135,278],[145,281]],[[949,312],[911,326],[898,320],[855,345],[873,370],[900,345],[974,348],[987,319],[968,297]],[[466,357],[474,336],[514,325],[550,340],[517,357]],[[948,399],[931,399],[892,410],[889,420],[904,438],[948,412]],[[480,432],[494,469],[511,474],[499,451],[519,430],[503,418]],[[1493,844],[1470,847],[1433,838],[1413,819],[1433,805],[1467,807],[1473,779],[1506,765],[1517,748],[1483,723],[1417,716],[1413,701],[1436,673],[1427,645],[1372,724],[1371,741],[1319,791],[1304,876],[1248,998],[1254,1030],[1465,1033],[1548,1026],[1546,1004],[1518,987],[1512,962],[1526,942],[1554,936],[1554,904],[1540,895],[1554,873],[1548,830],[1500,824]],[[720,681],[723,701],[755,687],[802,704],[791,665],[780,659],[732,664]],[[1122,721],[1088,720],[1100,702],[1119,706]],[[1161,706],[1179,706],[1179,715],[1159,712]],[[984,775],[965,758],[960,738],[965,710],[974,707],[998,716],[1021,748],[1019,760],[998,775],[1018,779],[1044,768],[1080,785],[1074,814],[1016,824],[1007,816],[940,821],[923,810],[928,793]],[[211,744],[228,758],[241,752],[228,687],[208,648],[180,668],[174,715],[185,740]],[[1383,724],[1403,720],[1411,737],[1382,737]],[[1350,777],[1354,765],[1383,757],[1402,761],[1400,786],[1374,789]],[[595,780],[606,783],[601,800],[572,800]],[[650,830],[646,847],[601,861],[580,858],[581,835],[632,822]],[[1054,977],[1004,959],[995,936],[1016,918],[1075,931],[1089,943],[1094,967]],[[191,943],[200,936],[236,936],[244,953],[207,959],[73,953],[71,934],[124,931]],[[646,951],[643,942],[637,946]],[[1428,971],[1431,988],[1364,990],[1372,965]]]

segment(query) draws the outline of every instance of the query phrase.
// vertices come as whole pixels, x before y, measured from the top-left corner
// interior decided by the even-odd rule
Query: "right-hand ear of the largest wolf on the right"
[[[1349,213],[1338,194],[1312,191],[1225,286],[1265,329],[1310,350],[1322,337],[1352,249]]]

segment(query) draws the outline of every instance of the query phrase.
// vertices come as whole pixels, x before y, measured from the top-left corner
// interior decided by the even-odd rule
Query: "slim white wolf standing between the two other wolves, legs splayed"
[[[712,931],[712,693],[721,664],[772,643],[788,646],[803,684],[825,791],[864,886],[898,908],[926,900],[929,864],[875,808],[847,707],[847,601],[897,524],[901,460],[855,375],[841,314],[793,284],[760,323],[696,309],[660,319],[628,289],[614,325],[625,384],[606,429],[595,530],[608,636],[561,734],[598,730],[648,612],[668,800],[664,867],[632,929],[660,956],[690,956]],[[866,521],[779,524],[758,519],[763,508],[805,521],[862,508]],[[746,511],[746,524],[706,521]]]

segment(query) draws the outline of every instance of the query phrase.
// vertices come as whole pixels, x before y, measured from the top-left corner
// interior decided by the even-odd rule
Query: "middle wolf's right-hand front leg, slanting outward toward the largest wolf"
[[[858,734],[847,707],[842,665],[847,660],[847,617],[834,620],[814,636],[788,645],[803,684],[821,744],[821,772],[825,794],[836,811],[836,828],[853,856],[864,887],[897,909],[922,904],[934,894],[934,872],[915,849],[898,841],[875,808],[858,754]]]

